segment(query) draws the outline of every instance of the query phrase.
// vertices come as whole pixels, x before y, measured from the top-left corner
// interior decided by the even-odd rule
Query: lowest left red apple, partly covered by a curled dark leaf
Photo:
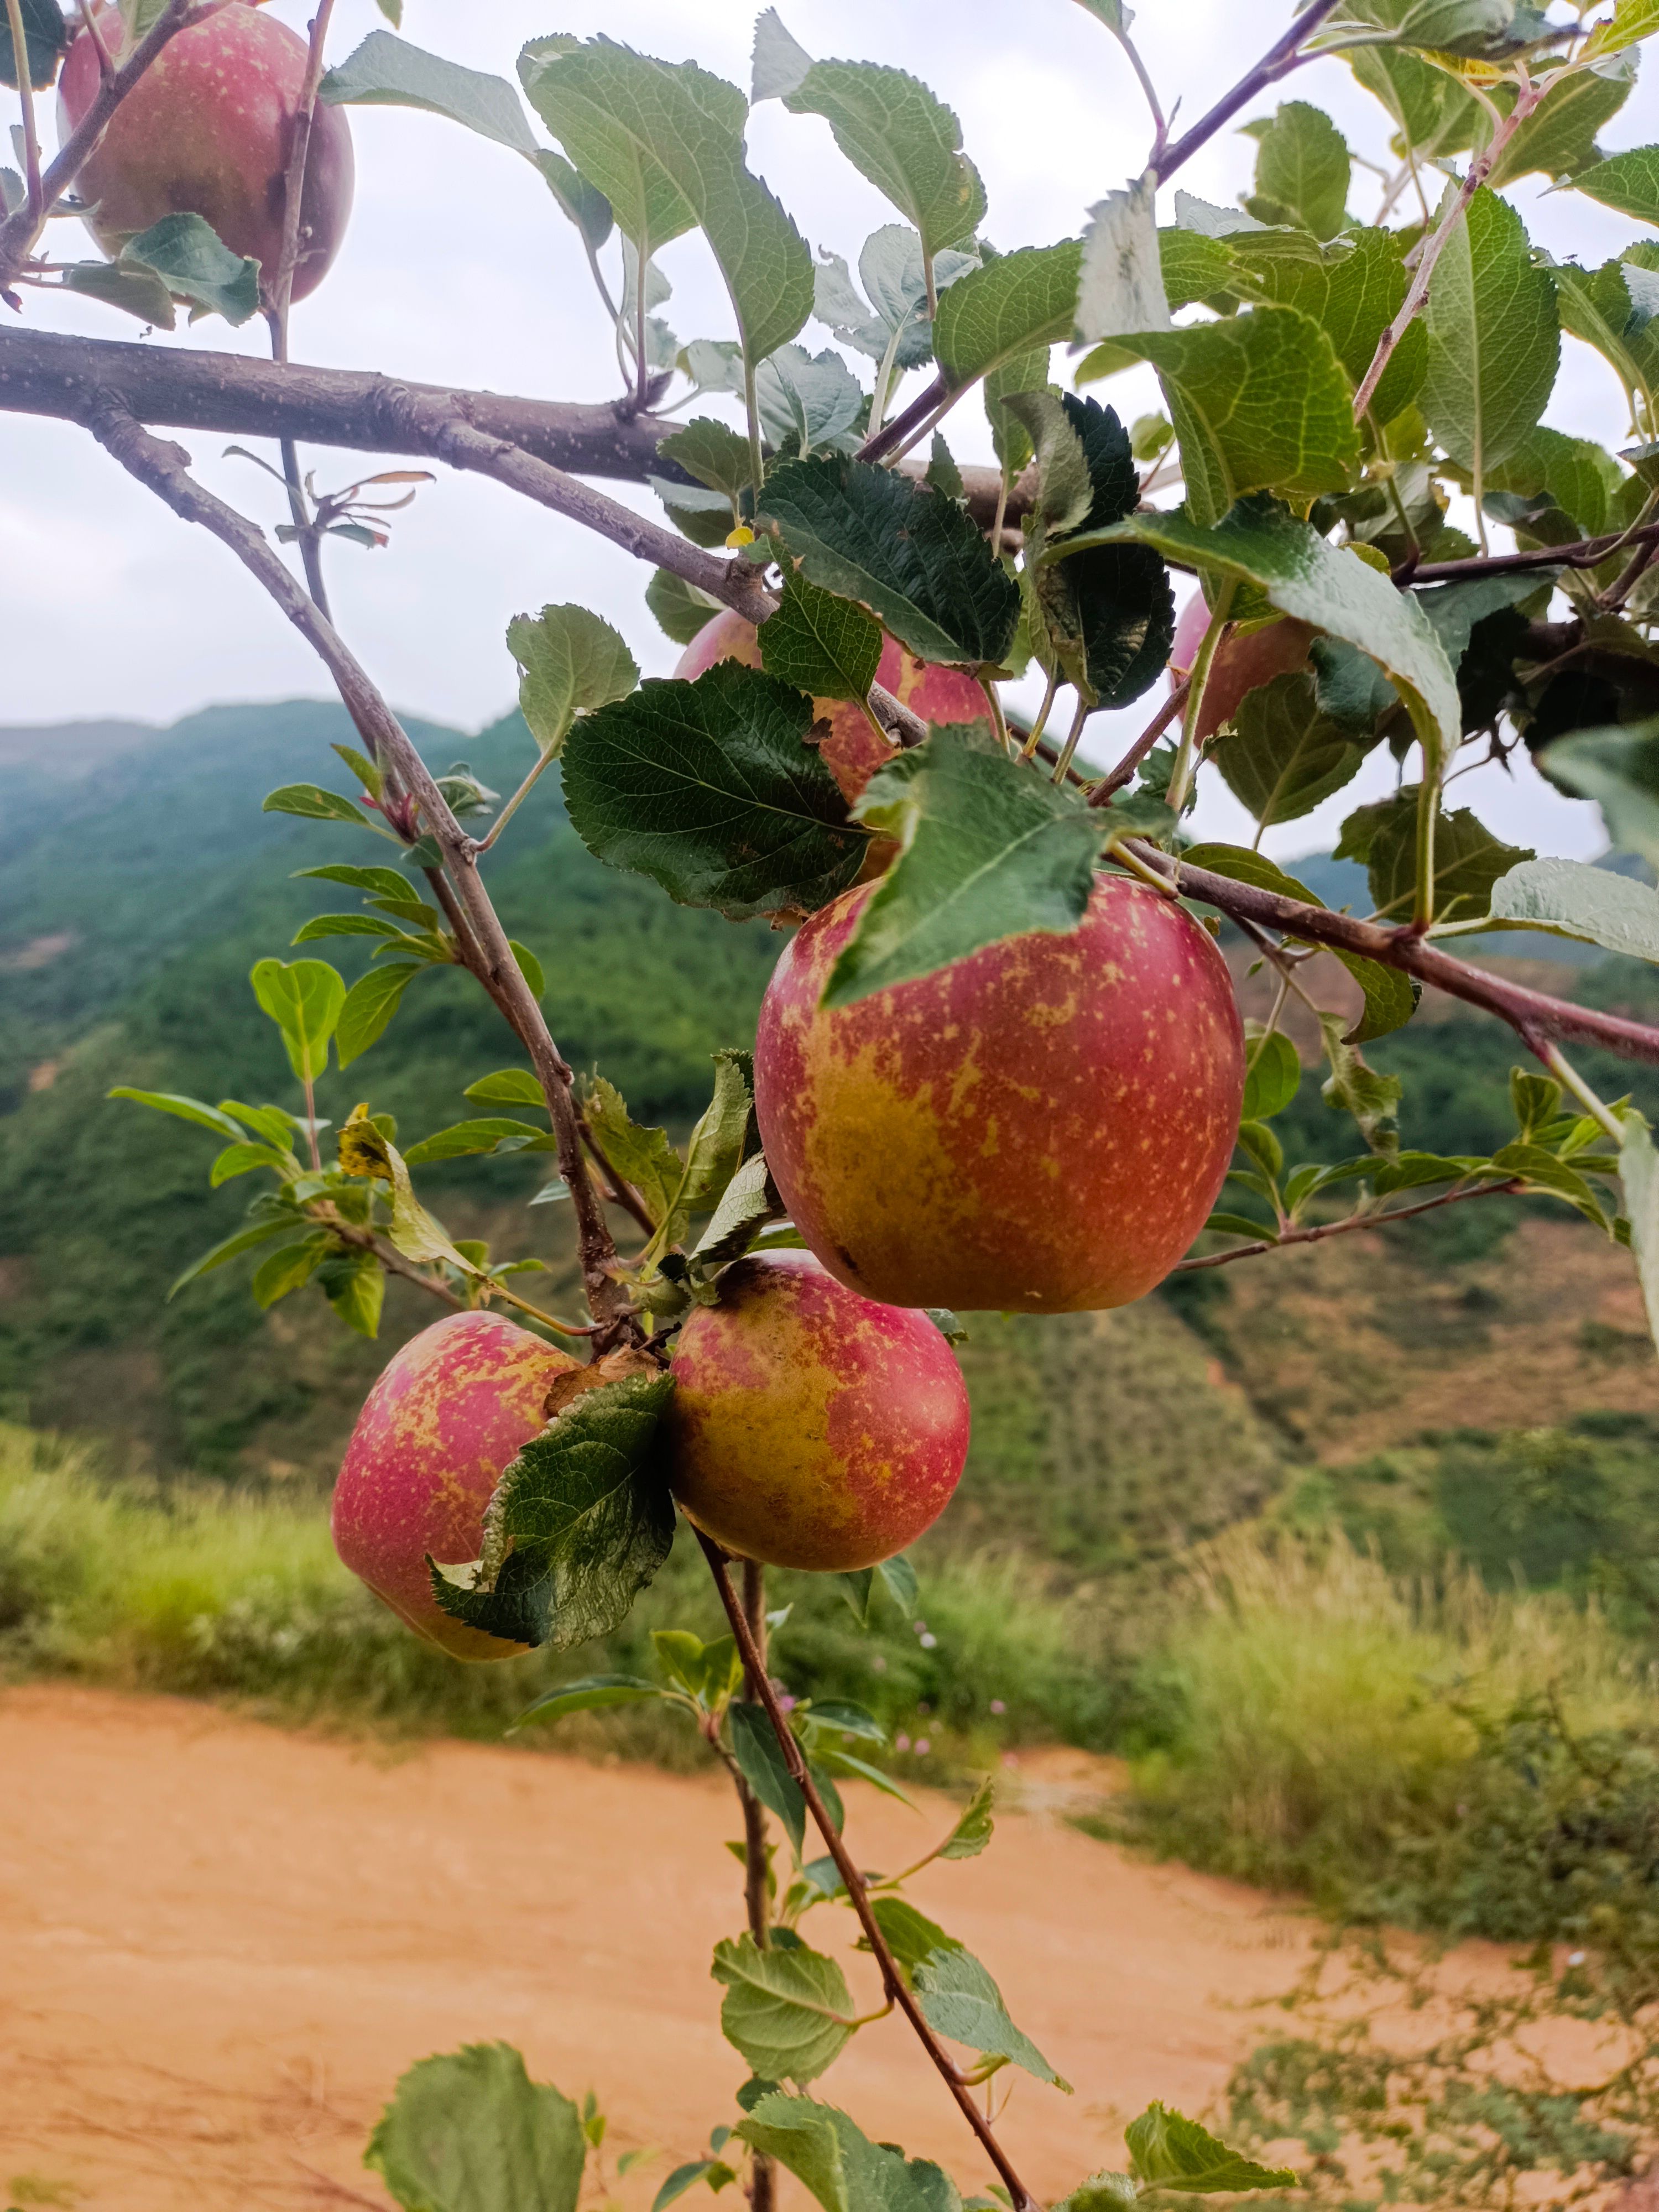
[[[511,1659],[524,1646],[451,1619],[431,1595],[427,1553],[442,1566],[480,1555],[495,1482],[575,1367],[500,1314],[449,1314],[409,1338],[358,1413],[334,1484],[334,1548],[456,1659]]]

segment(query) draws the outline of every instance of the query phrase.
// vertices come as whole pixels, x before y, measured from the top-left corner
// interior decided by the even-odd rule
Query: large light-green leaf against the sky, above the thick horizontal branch
[[[524,91],[641,261],[699,223],[732,296],[750,363],[812,314],[812,252],[743,161],[748,104],[695,62],[657,62],[597,38],[544,53]]]

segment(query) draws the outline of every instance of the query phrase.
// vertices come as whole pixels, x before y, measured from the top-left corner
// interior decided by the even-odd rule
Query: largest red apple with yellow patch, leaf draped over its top
[[[1243,1029],[1210,933],[1099,876],[1073,936],[987,945],[852,1006],[818,1004],[874,887],[785,947],[754,1040],[754,1108],[794,1225],[891,1305],[1128,1305],[1214,1206]]]

